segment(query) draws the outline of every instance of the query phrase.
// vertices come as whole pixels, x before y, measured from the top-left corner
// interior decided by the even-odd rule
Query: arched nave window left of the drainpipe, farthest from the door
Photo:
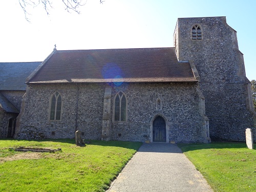
[[[56,91],[50,100],[50,120],[60,120],[61,102],[61,95]]]

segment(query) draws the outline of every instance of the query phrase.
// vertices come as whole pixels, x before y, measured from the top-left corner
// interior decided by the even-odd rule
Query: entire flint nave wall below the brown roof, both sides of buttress
[[[24,112],[17,123],[17,138],[74,138],[76,131],[76,100],[79,88],[77,130],[84,139],[101,139],[105,84],[49,84],[29,86],[24,98]],[[203,142],[203,117],[199,113],[199,96],[195,83],[123,83],[112,84],[112,140],[145,141],[150,135],[150,121],[156,114],[168,120],[169,140]],[[51,94],[62,97],[60,121],[49,120]],[[127,121],[114,122],[114,97],[123,91],[127,98]],[[156,109],[157,99],[162,101]],[[54,132],[54,135],[52,134]]]

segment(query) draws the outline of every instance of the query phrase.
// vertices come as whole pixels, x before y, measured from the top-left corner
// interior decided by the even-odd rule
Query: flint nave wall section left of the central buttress
[[[62,98],[61,120],[49,120],[50,97],[55,91]],[[18,117],[17,138],[74,138],[75,132],[80,130],[87,139],[100,139],[103,95],[104,87],[98,84],[78,87],[75,84],[29,86],[24,98],[24,112]]]

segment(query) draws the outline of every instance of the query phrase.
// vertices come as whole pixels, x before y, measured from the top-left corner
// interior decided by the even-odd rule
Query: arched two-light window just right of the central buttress
[[[115,96],[115,112],[114,120],[115,121],[126,121],[126,97],[122,91],[118,92]]]

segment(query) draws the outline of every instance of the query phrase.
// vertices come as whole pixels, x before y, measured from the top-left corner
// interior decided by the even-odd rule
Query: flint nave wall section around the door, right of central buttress
[[[114,87],[113,96],[119,91],[125,93],[128,109],[127,122],[112,121],[111,138],[130,141],[150,139],[147,138],[150,136],[150,121],[160,113],[168,120],[169,141],[203,142],[203,117],[199,113],[196,87],[193,83],[131,83]],[[162,102],[161,110],[156,109],[158,98]]]

